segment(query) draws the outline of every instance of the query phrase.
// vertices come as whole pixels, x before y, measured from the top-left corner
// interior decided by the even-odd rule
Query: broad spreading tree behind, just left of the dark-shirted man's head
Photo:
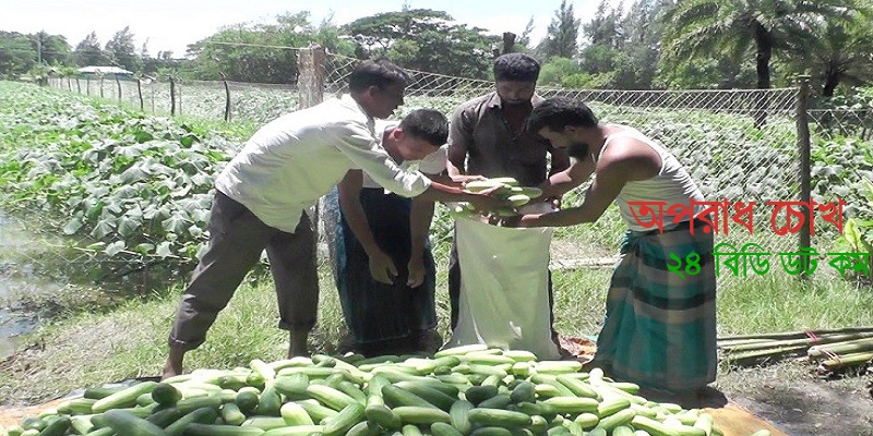
[[[343,27],[360,58],[385,56],[407,69],[473,78],[490,76],[499,40],[483,31],[430,9],[380,13]]]

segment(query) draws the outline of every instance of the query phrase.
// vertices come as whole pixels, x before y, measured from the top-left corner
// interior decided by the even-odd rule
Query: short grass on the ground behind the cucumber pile
[[[440,264],[438,315],[440,332],[447,339],[445,256]],[[313,352],[332,353],[346,330],[330,268],[321,269],[319,323],[310,343]],[[602,268],[553,271],[559,331],[597,334],[610,274]],[[274,361],[285,355],[288,338],[276,328],[278,315],[268,277],[265,271],[249,276],[218,316],[206,343],[187,356],[188,370],[231,368],[253,359]],[[95,312],[91,305],[71,308],[0,364],[0,398],[8,403],[33,403],[76,388],[159,374],[181,289],[177,283],[117,303],[108,312]],[[873,325],[873,292],[825,276],[801,282],[774,271],[722,280],[718,314],[721,335]]]

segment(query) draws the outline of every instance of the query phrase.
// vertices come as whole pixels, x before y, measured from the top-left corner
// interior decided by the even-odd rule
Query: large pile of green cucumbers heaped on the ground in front
[[[485,346],[432,356],[254,360],[162,383],[86,389],[10,436],[711,436],[701,410],[638,387]],[[766,432],[766,431],[765,431]],[[761,435],[768,433],[760,433]]]

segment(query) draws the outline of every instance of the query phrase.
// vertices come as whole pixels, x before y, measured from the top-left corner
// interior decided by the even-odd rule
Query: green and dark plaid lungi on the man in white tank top
[[[716,378],[716,274],[713,234],[687,225],[657,232],[627,232],[607,295],[607,318],[595,362],[641,386],[692,390]],[[699,271],[685,256],[699,255]],[[668,270],[682,259],[680,271]],[[692,270],[693,271],[693,270]]]

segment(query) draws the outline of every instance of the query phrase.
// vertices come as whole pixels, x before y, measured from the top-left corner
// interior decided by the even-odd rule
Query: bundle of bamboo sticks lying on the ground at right
[[[718,339],[730,364],[744,366],[785,358],[809,359],[823,373],[873,361],[873,326],[730,336]]]

